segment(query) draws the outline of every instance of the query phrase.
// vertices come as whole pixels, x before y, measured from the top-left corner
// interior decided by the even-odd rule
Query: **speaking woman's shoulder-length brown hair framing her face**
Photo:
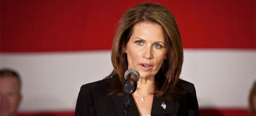
[[[167,59],[164,59],[164,64],[162,65],[163,68],[160,68],[155,76],[154,95],[162,96],[168,93],[168,95],[171,95],[168,96],[168,98],[172,98],[172,92],[176,91],[175,86],[182,70],[182,40],[173,14],[160,4],[145,2],[135,5],[125,12],[119,22],[113,41],[111,61],[114,70],[107,78],[117,74],[119,79],[115,83],[113,93],[122,92],[121,82],[123,82],[124,73],[128,68],[127,56],[124,53],[124,48],[126,48],[127,42],[133,33],[135,24],[142,22],[156,23],[163,28]]]

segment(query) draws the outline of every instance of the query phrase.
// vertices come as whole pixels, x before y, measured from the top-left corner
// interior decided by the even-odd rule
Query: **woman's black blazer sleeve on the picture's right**
[[[196,98],[195,86],[191,83],[189,87],[189,99],[188,99],[188,115],[189,116],[198,116],[199,108],[198,101]]]

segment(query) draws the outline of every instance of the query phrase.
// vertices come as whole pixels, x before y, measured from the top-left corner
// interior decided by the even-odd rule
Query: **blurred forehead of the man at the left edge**
[[[20,83],[15,77],[4,76],[0,77],[0,90],[18,90]]]

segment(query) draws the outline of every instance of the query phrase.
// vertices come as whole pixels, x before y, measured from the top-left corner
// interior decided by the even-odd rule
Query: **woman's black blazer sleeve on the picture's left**
[[[91,115],[96,115],[96,111],[93,104],[92,93],[90,92],[88,84],[85,84],[80,88],[76,102],[75,116]]]

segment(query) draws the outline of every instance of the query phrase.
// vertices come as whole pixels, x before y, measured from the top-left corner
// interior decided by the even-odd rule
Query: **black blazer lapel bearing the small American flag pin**
[[[154,96],[151,115],[173,114],[174,111],[175,111],[175,102],[167,101],[163,97]]]

